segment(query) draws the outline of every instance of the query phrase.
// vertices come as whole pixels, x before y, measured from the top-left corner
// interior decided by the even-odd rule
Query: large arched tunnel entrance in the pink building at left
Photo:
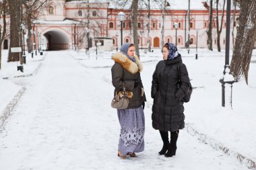
[[[71,34],[61,28],[46,28],[40,33],[44,50],[65,50],[71,48]]]

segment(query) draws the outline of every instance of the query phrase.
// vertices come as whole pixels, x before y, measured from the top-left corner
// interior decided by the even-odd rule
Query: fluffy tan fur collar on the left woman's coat
[[[113,60],[115,60],[115,62],[119,63],[124,69],[126,69],[133,75],[137,72],[141,72],[143,69],[142,64],[137,56],[135,56],[135,62],[133,62],[129,58],[127,58],[125,54],[117,52],[113,56]]]

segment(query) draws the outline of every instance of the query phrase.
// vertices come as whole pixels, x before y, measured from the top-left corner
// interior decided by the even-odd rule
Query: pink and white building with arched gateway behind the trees
[[[164,42],[176,43],[179,48],[185,48],[189,40],[189,48],[207,48],[207,29],[209,24],[209,7],[206,2],[191,0],[190,10],[187,1],[169,0],[164,11],[152,3],[150,19],[147,6],[139,6],[137,13],[137,33],[139,48],[148,48],[148,37],[152,48],[160,48],[162,40],[162,24],[164,24]],[[222,9],[220,7],[220,9]],[[33,30],[36,32],[34,42],[38,42],[45,50],[73,48],[89,48],[96,45],[96,38],[112,38],[113,49],[121,45],[121,22],[118,13],[123,11],[123,42],[133,42],[133,28],[130,4],[117,5],[115,1],[50,1],[45,9],[38,13],[34,21]],[[190,13],[190,15],[189,15]],[[219,21],[222,11],[219,11]],[[230,48],[236,37],[236,27],[239,11],[231,11]],[[213,48],[217,48],[216,10],[213,11],[212,40]],[[234,21],[234,22],[233,22]],[[177,22],[177,30],[174,28]],[[148,34],[148,26],[150,32]],[[234,27],[233,27],[234,26]],[[221,48],[226,44],[226,11],[220,35]],[[7,48],[9,40],[4,41],[3,48]],[[188,44],[187,44],[188,45]],[[188,46],[187,46],[188,47]]]

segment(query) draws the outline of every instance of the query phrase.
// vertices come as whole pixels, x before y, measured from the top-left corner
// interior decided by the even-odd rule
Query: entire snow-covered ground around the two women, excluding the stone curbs
[[[228,99],[226,108],[222,108],[219,79],[224,52],[200,49],[198,60],[193,49],[190,54],[180,52],[191,83],[197,87],[191,101],[185,103],[187,125],[256,161],[256,63],[251,63],[248,86],[245,81],[234,84],[233,109]],[[96,60],[94,52],[90,58],[84,52],[47,52],[45,58],[40,56],[44,60],[31,59],[24,66],[24,72],[33,73],[42,63],[38,73],[18,78],[13,77],[25,73],[7,71],[12,66],[3,58],[5,67],[0,77],[9,79],[0,79],[0,116],[21,86],[26,86],[26,91],[1,127],[0,169],[247,169],[186,130],[181,130],[175,157],[158,156],[162,142],[151,126],[150,87],[156,63],[162,58],[159,50],[141,56],[141,77],[148,99],[145,151],[137,158],[119,159],[119,122],[116,111],[110,108],[112,53],[98,53]]]

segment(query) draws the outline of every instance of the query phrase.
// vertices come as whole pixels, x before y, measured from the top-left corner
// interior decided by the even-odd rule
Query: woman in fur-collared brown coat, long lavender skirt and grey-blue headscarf
[[[124,87],[129,97],[127,109],[117,109],[121,132],[119,138],[118,156],[122,159],[126,155],[135,157],[135,153],[144,150],[145,118],[144,106],[146,96],[143,91],[140,72],[142,65],[135,56],[134,44],[125,43],[113,56],[112,83],[115,87],[114,95]]]

